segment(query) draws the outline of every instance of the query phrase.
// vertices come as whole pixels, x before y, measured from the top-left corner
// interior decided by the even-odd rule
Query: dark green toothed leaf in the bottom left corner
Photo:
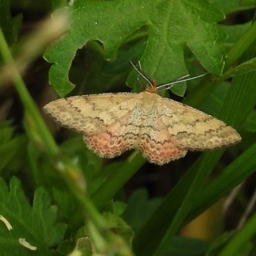
[[[0,222],[1,255],[35,255],[33,250],[22,246],[20,238],[36,247],[36,255],[57,255],[53,246],[58,245],[65,233],[64,224],[56,224],[56,207],[50,204],[44,189],[36,189],[33,207],[29,205],[17,178],[10,181],[10,191],[0,179],[0,213],[12,225],[8,230]]]

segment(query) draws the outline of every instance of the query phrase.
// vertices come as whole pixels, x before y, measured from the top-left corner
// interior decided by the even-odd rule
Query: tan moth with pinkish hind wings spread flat
[[[106,158],[139,149],[150,163],[162,165],[188,150],[214,150],[241,141],[221,120],[158,95],[161,87],[153,82],[141,93],[67,97],[44,109],[62,126],[83,134],[87,147]]]

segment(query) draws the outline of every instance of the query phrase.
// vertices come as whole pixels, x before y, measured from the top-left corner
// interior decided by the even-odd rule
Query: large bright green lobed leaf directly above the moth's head
[[[188,74],[184,42],[207,70],[217,75],[223,70],[225,49],[220,42],[226,35],[216,22],[225,16],[206,0],[78,0],[64,11],[70,16],[70,31],[45,52],[45,59],[54,63],[50,83],[61,97],[74,87],[68,70],[77,49],[98,40],[110,60],[127,36],[146,25],[149,33],[141,65],[150,79],[163,84]],[[140,86],[137,77],[133,70],[127,83]]]

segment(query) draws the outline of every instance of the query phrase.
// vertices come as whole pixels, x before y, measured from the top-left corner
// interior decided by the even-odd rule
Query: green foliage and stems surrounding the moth
[[[0,215],[13,227],[0,222],[1,255],[35,253],[19,244],[21,237],[36,255],[255,255],[253,206],[236,230],[253,198],[256,164],[254,3],[241,4],[0,1]],[[36,24],[49,13],[69,21],[55,30],[53,23]],[[38,111],[56,99],[54,91],[61,97],[140,92],[129,60],[140,60],[159,84],[210,72],[164,95],[224,120],[243,142],[161,167],[145,163],[140,152],[109,161]],[[221,198],[244,180],[223,214]],[[196,228],[184,228],[209,207]]]

